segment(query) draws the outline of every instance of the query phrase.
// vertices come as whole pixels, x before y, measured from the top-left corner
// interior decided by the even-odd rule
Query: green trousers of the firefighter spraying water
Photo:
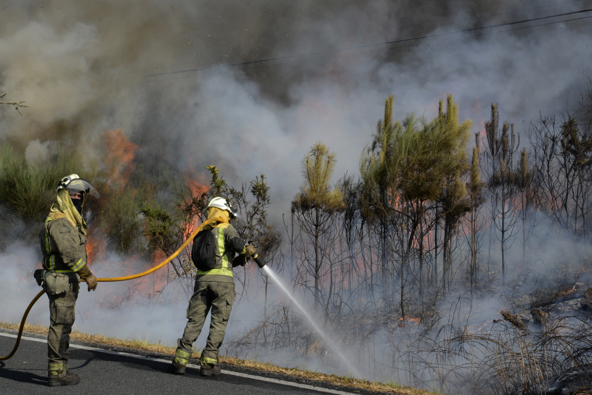
[[[234,283],[221,283],[220,281],[195,281],[194,294],[187,307],[188,322],[183,332],[183,338],[178,339],[175,360],[173,363],[182,367],[187,365],[191,358],[193,343],[200,335],[204,326],[205,317],[210,309],[212,317],[210,334],[201,353],[200,365],[215,365],[218,362],[218,349],[224,340],[224,331],[230,317],[232,301],[234,299]]]

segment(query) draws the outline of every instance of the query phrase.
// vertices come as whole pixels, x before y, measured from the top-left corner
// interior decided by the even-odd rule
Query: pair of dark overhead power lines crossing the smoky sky
[[[481,30],[491,29],[491,28],[496,28],[496,27],[517,25],[517,24],[526,23],[526,22],[533,22],[533,21],[546,20],[546,19],[550,19],[550,18],[564,17],[566,15],[582,14],[584,12],[590,12],[590,11],[592,11],[592,8],[582,9],[580,11],[564,12],[562,14],[548,15],[546,17],[530,18],[530,19],[521,20],[521,21],[505,22],[505,23],[500,23],[500,24],[496,24],[496,25],[488,25],[488,26],[474,27],[474,28],[468,28],[468,29],[463,29],[463,30],[449,31],[449,32],[445,32],[445,33],[434,33],[434,34],[420,35],[420,36],[417,36],[417,37],[400,38],[399,40],[384,41],[382,43],[363,44],[361,46],[346,47],[346,48],[337,48],[337,49],[333,49],[333,50],[324,50],[324,51],[317,51],[317,52],[311,52],[311,53],[305,53],[305,54],[295,54],[295,55],[288,55],[288,56],[280,56],[280,57],[273,57],[273,58],[269,58],[269,59],[249,60],[249,61],[242,61],[242,62],[231,63],[231,64],[216,64],[214,66],[198,67],[197,69],[178,70],[178,71],[175,71],[175,72],[164,72],[164,73],[149,74],[149,75],[145,75],[144,77],[157,77],[157,76],[180,74],[180,73],[198,72],[198,71],[202,71],[202,70],[215,69],[215,68],[218,68],[218,67],[247,66],[249,64],[265,63],[265,62],[268,62],[268,61],[287,60],[287,59],[295,59],[295,58],[307,57],[307,56],[316,56],[316,55],[339,53],[339,52],[343,52],[343,51],[350,51],[350,50],[361,49],[361,48],[386,46],[386,45],[391,45],[391,44],[405,43],[405,42],[414,41],[414,40],[424,40],[426,38],[442,37],[442,36],[451,35],[451,34],[476,32],[476,31],[481,31]],[[592,17],[592,15],[590,17]],[[581,20],[581,19],[586,19],[586,18],[590,18],[590,17],[574,18],[572,20],[567,20],[567,21]],[[567,22],[567,21],[556,21],[556,22],[550,22],[550,23],[547,23],[547,24],[539,24],[539,25],[525,26],[525,27],[521,27],[521,28],[509,29],[509,30],[504,30],[504,31],[520,30],[520,29],[524,29],[524,28],[530,28],[530,27],[536,27],[536,26],[554,24],[554,23],[559,23],[559,22]],[[490,34],[490,33],[488,33],[488,34]],[[482,35],[482,34],[476,34],[476,35]],[[414,45],[419,45],[419,44],[414,44]],[[396,49],[396,48],[400,48],[400,47],[386,48],[386,49],[387,50],[390,50],[390,49]],[[286,63],[284,63],[284,64],[286,64]],[[276,64],[274,64],[274,65],[268,65],[266,67],[270,67],[270,66],[276,66]],[[253,68],[255,68],[255,67],[253,67]]]

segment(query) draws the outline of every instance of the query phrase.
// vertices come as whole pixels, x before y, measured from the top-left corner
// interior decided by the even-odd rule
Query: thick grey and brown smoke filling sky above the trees
[[[3,4],[0,92],[30,108],[24,116],[2,108],[0,138],[27,150],[32,164],[60,147],[101,157],[96,136],[123,128],[143,160],[195,173],[215,164],[235,184],[266,174],[275,218],[288,210],[316,140],[336,151],[336,178],[356,173],[388,95],[402,118],[432,116],[452,93],[474,132],[498,102],[522,132],[539,111],[567,108],[591,59],[584,19],[162,74],[559,14],[590,8],[589,0]]]

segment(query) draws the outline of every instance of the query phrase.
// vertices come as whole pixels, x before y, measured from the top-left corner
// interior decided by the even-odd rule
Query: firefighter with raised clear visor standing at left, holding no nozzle
[[[81,214],[88,195],[99,197],[91,184],[78,174],[64,177],[41,230],[43,270],[38,270],[35,277],[49,297],[47,375],[51,387],[73,386],[80,382],[79,375],[68,370],[67,361],[78,278],[86,281],[89,291],[96,289],[96,277],[86,266],[86,222]]]

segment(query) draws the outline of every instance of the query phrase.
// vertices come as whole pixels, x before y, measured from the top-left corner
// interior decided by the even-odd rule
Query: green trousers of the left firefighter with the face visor
[[[66,375],[70,332],[75,319],[78,283],[70,283],[68,292],[49,296],[49,333],[47,334],[47,372],[55,378]],[[55,375],[55,376],[53,376]]]

